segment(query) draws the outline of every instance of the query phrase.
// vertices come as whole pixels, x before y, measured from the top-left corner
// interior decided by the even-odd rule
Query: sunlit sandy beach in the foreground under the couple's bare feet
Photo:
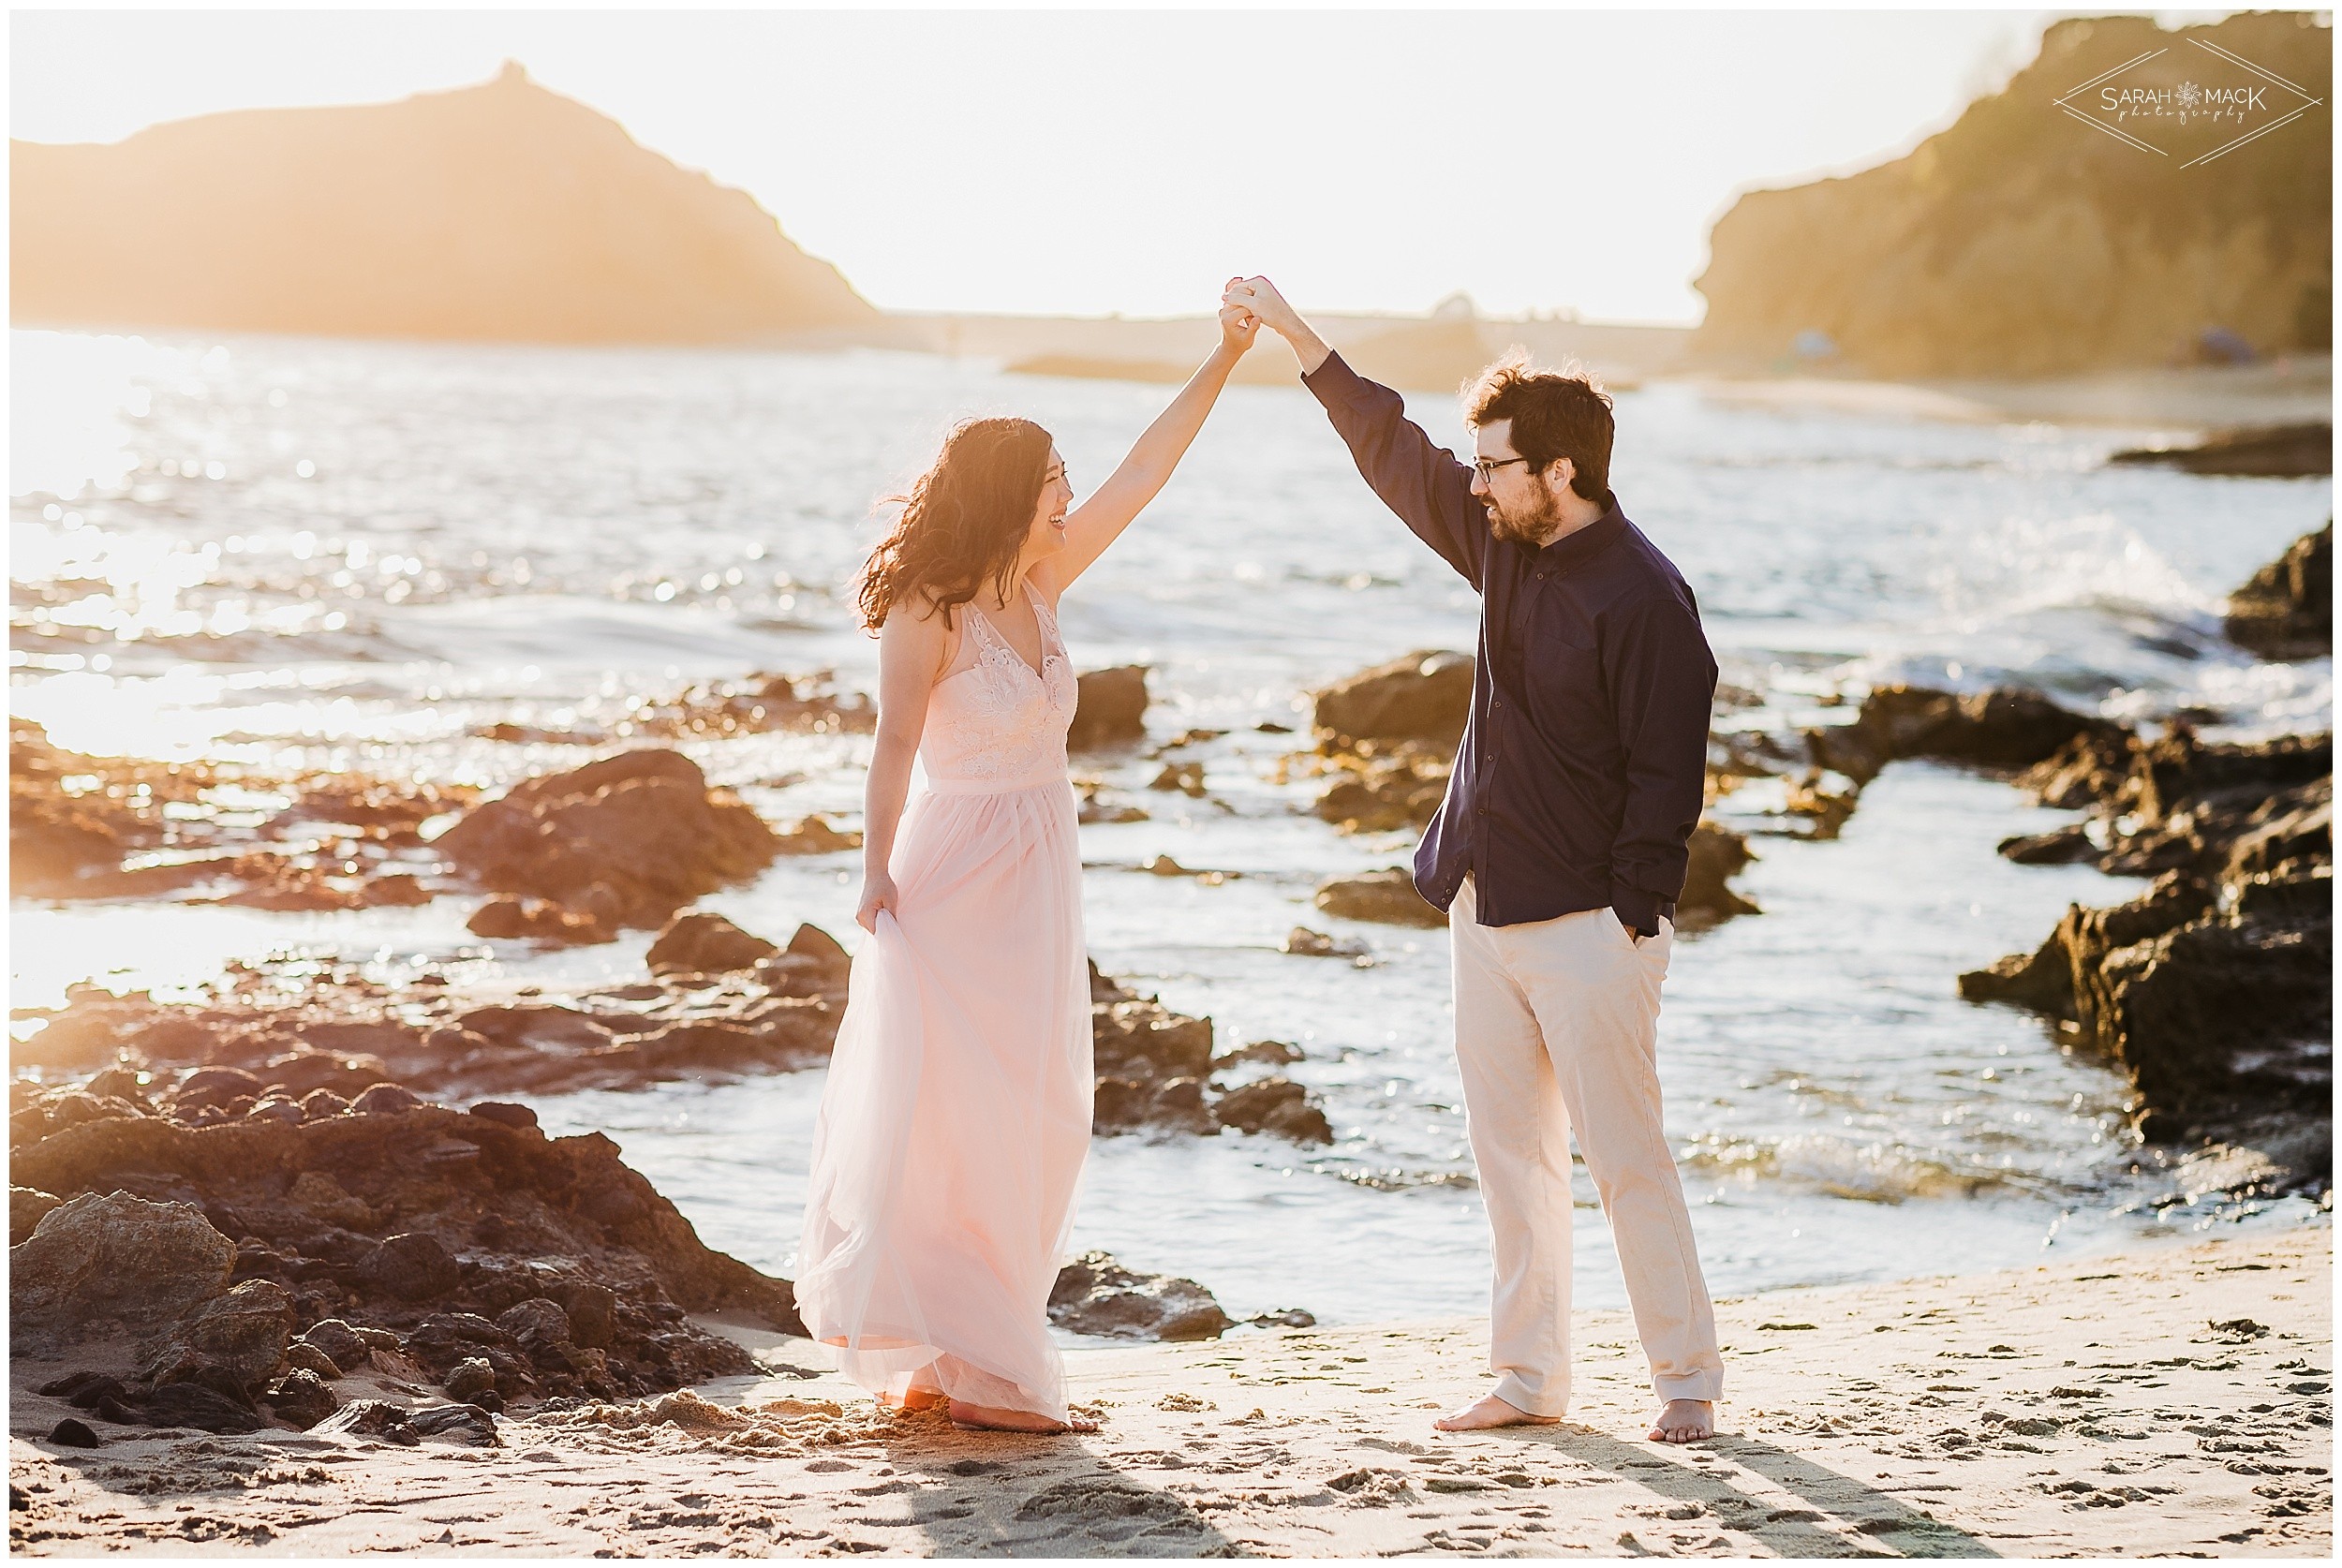
[[[1719,1306],[1721,1437],[1642,1442],[1632,1327],[1579,1315],[1579,1402],[1447,1437],[1485,1322],[1080,1350],[1080,1439],[888,1416],[808,1341],[766,1378],[499,1421],[494,1446],[42,1442],[9,1392],[9,1535],[37,1554],[578,1556],[2328,1556],[2326,1226]],[[344,1397],[368,1390],[344,1385]],[[398,1392],[396,1385],[384,1392]],[[419,1392],[419,1390],[415,1390]]]

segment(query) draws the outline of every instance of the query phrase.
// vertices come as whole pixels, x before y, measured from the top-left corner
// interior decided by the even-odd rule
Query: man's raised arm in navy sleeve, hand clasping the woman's
[[[1326,346],[1267,278],[1230,283],[1225,304],[1251,311],[1293,344],[1302,384],[1326,405],[1333,428],[1349,442],[1358,473],[1415,536],[1440,552],[1466,583],[1480,587],[1487,562],[1487,508],[1471,494],[1471,468],[1438,447],[1408,419],[1405,400],[1368,381]]]

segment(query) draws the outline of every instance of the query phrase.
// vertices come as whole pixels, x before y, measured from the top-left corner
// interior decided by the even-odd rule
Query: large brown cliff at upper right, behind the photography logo
[[[1869,374],[1981,377],[2159,365],[2206,332],[2260,353],[2328,349],[2328,108],[2192,169],[2059,110],[2148,51],[2164,51],[2148,73],[2258,84],[2272,105],[2258,122],[2295,103],[2197,40],[2330,98],[2333,28],[2307,12],[2178,33],[2145,16],[2056,21],[2007,89],[1909,157],[1740,197],[1710,234],[1693,351],[1771,365],[1810,332]]]

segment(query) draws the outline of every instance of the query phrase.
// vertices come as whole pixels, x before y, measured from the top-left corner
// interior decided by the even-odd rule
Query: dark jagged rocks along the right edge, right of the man
[[[2330,653],[2330,606],[2328,522],[2234,594],[2230,630],[2265,658]],[[2124,1072],[2145,1142],[2251,1149],[2255,1191],[2330,1191],[2330,733],[2204,742],[2185,718],[2145,733],[2031,690],[1883,688],[1810,747],[1855,791],[1895,758],[1937,756],[2082,812],[2000,852],[2150,887],[2068,908],[2038,950],[1963,974],[1960,995],[2033,1009],[2068,1051]]]

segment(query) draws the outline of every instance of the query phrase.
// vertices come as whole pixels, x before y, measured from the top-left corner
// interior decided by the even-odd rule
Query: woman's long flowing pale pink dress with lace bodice
[[[1026,592],[1040,672],[970,604],[927,702],[899,908],[855,955],[813,1133],[796,1304],[871,1392],[1063,1421],[1047,1308],[1089,1154],[1089,976],[1075,681]]]

